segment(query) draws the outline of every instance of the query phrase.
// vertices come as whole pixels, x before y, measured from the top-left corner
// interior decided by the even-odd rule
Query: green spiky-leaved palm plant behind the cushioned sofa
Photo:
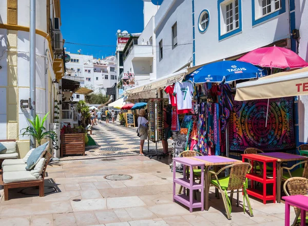
[[[46,130],[46,128],[44,127],[44,122],[47,120],[48,114],[49,112],[43,117],[43,119],[41,119],[37,115],[33,120],[28,119],[31,126],[21,129],[20,136],[32,136],[39,146],[41,145],[43,139],[50,138],[52,139],[52,141],[57,141],[57,136],[54,131],[44,131]]]

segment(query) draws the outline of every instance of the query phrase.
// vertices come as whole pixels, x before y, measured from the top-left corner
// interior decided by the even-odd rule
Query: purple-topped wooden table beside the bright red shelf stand
[[[281,165],[282,162],[288,162],[288,161],[298,161],[298,160],[306,160],[308,159],[305,156],[299,156],[299,155],[294,155],[294,154],[289,154],[289,153],[283,153],[283,152],[268,152],[268,153],[260,153],[260,154],[256,154],[256,155],[261,155],[261,156],[267,156],[270,158],[274,158],[277,159],[276,163],[277,163],[277,171],[276,171],[276,179],[277,179],[277,183],[276,183],[276,198],[277,198],[277,202],[280,202],[281,199],[281,178],[282,178],[282,172],[281,172]]]

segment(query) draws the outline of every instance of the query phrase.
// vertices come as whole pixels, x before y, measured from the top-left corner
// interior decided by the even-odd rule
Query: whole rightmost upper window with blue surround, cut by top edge
[[[285,1],[253,0],[253,26],[285,12]]]

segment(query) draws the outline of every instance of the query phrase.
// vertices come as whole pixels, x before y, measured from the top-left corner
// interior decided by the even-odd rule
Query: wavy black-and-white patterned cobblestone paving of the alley
[[[85,156],[66,156],[61,160],[80,160],[93,158],[106,158],[114,156],[131,156],[139,154],[140,138],[137,136],[136,127],[121,126],[115,123],[98,123],[92,129],[93,140],[97,146],[86,146]],[[171,152],[171,144],[169,151]],[[155,150],[155,143],[145,141],[144,152]],[[162,152],[161,142],[158,143],[158,151]]]

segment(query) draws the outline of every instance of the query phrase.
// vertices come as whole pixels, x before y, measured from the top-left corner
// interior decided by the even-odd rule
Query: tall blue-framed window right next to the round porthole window
[[[242,31],[242,1],[241,0],[233,0],[233,1],[218,0],[217,7],[218,7],[218,39],[219,41],[241,32]],[[221,15],[221,11],[222,11],[222,15]]]

